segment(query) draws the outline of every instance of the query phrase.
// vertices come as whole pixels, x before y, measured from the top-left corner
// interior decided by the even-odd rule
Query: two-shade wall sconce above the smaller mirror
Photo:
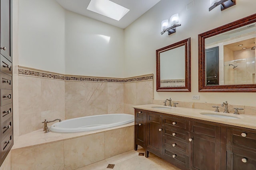
[[[174,14],[170,18],[170,23],[168,20],[163,20],[161,23],[161,34],[168,32],[168,35],[176,32],[176,27],[179,27],[181,24],[179,23],[179,14]]]

